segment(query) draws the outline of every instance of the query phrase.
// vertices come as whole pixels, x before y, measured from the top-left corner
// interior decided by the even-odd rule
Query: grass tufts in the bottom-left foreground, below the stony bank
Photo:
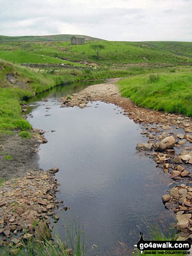
[[[34,223],[34,228],[37,223]],[[42,231],[43,232],[43,231]],[[86,256],[84,246],[84,232],[76,220],[67,224],[67,241],[69,244],[61,241],[60,236],[54,235],[52,238],[45,236],[45,231],[40,234],[42,241],[35,238],[24,239],[15,244],[10,242],[9,246],[0,246],[1,256]],[[67,242],[66,241],[66,242]],[[70,249],[68,249],[70,248]]]

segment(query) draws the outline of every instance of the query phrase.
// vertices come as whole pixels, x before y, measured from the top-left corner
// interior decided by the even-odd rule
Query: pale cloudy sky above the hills
[[[192,41],[192,0],[0,0],[0,35]]]

